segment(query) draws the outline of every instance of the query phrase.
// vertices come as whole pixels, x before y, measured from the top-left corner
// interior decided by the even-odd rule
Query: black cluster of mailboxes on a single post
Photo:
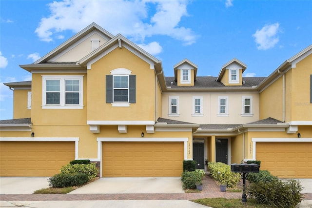
[[[239,172],[241,178],[243,179],[243,194],[242,194],[242,202],[247,202],[246,196],[246,176],[248,173],[258,173],[260,166],[257,164],[231,164],[231,171],[232,172]]]

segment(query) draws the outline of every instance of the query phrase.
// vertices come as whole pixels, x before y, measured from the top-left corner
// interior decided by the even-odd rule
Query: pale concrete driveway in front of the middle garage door
[[[70,193],[184,193],[184,191],[180,177],[127,177],[100,178]]]

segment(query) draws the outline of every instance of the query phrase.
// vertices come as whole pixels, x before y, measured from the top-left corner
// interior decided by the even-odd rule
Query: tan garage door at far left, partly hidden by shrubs
[[[0,142],[0,176],[45,176],[75,160],[75,142]]]

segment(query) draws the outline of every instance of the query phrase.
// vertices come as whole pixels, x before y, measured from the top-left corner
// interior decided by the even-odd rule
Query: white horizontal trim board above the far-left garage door
[[[79,137],[0,137],[1,142],[77,142]]]

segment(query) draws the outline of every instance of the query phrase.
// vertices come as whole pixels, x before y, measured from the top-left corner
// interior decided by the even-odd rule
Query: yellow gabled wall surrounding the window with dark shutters
[[[106,103],[106,75],[124,68],[136,76],[136,102],[129,107]],[[129,50],[116,48],[88,70],[88,121],[155,121],[155,71]]]

